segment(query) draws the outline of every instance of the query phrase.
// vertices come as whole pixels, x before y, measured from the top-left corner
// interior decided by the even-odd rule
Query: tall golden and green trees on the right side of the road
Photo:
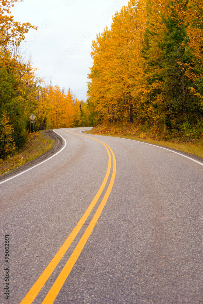
[[[113,16],[92,44],[88,103],[99,123],[202,136],[202,13],[202,0],[131,0]]]

